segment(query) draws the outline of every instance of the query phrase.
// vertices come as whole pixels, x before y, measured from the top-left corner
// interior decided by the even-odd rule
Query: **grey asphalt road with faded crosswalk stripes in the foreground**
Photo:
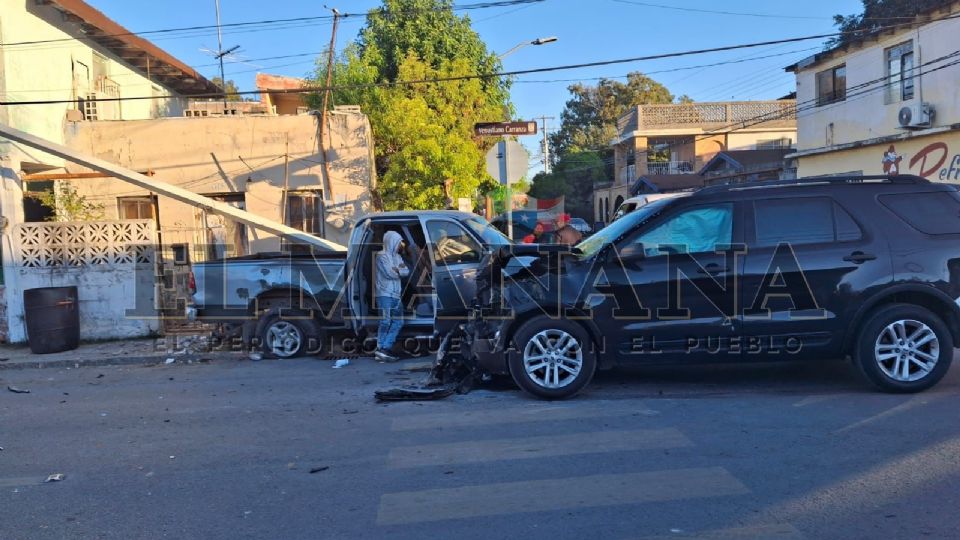
[[[956,366],[915,396],[823,362],[618,371],[565,402],[501,382],[383,405],[374,389],[420,374],[331,365],[0,373],[0,538],[960,531]]]

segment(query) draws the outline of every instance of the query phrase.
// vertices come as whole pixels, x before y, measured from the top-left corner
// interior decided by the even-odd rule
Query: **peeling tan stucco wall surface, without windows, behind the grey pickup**
[[[346,244],[354,220],[370,209],[375,181],[372,133],[363,114],[329,115],[327,151],[332,193],[325,193],[327,238]],[[318,117],[241,116],[163,118],[131,122],[76,122],[66,144],[89,155],[138,171],[152,170],[163,182],[199,194],[242,193],[246,209],[281,221],[284,154],[289,141],[290,190],[323,190],[323,155],[317,139]],[[328,144],[329,140],[328,139]],[[71,172],[84,169],[69,165]],[[75,180],[78,192],[118,214],[118,197],[148,195],[116,179]],[[197,211],[160,197],[164,243],[201,241]],[[251,251],[278,251],[279,239],[248,227]]]

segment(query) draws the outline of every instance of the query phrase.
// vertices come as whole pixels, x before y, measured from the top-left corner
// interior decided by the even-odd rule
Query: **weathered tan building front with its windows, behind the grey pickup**
[[[356,218],[372,210],[373,135],[364,114],[334,110],[327,115],[327,147],[321,149],[319,120],[319,115],[302,114],[72,122],[66,145],[346,244]],[[66,169],[88,172],[73,164]],[[163,247],[185,246],[192,261],[286,248],[275,235],[115,178],[74,181],[73,186],[102,205],[106,219],[154,220]]]

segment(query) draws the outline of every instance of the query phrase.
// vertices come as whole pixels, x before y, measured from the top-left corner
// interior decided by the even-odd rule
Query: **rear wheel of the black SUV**
[[[864,375],[886,392],[920,392],[937,384],[953,360],[953,336],[930,310],[891,304],[874,312],[857,337]]]

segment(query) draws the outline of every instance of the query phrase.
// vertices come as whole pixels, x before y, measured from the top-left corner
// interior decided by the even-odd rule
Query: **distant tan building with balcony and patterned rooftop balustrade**
[[[609,223],[647,175],[694,175],[718,152],[792,148],[795,101],[732,101],[639,105],[620,117],[614,181],[594,190],[597,222]]]

